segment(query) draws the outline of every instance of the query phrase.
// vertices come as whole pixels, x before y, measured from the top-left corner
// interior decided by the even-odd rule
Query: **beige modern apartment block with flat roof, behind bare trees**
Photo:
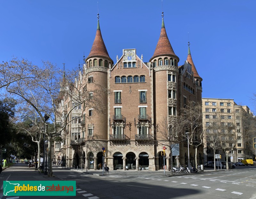
[[[219,145],[216,154],[221,155],[222,161],[226,161],[224,150],[231,149],[228,161],[240,162],[242,159],[255,158],[252,148],[255,117],[250,109],[237,105],[233,99],[202,98],[202,104],[205,160],[214,160],[211,147],[214,139]],[[224,150],[223,145],[226,148]]]

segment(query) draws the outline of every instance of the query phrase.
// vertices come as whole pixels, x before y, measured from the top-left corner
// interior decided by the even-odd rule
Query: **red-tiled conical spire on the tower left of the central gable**
[[[89,53],[86,60],[90,57],[95,57],[95,56],[106,57],[109,60],[111,60],[111,58],[108,55],[107,48],[102,39],[102,35],[101,35],[101,31],[100,31],[100,22],[99,22],[100,16],[99,16],[99,14],[98,14],[97,18],[98,18],[98,25],[97,25],[96,36],[95,36],[94,42],[92,44],[91,52]],[[111,60],[111,61],[113,62],[113,60]]]

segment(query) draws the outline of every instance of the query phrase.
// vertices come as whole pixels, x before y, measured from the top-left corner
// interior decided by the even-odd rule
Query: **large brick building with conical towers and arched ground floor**
[[[164,157],[160,154],[163,145],[156,144],[156,124],[164,118],[170,121],[176,117],[188,101],[202,103],[202,78],[192,61],[189,45],[187,60],[181,66],[178,66],[179,61],[167,37],[163,18],[155,52],[148,62],[136,54],[136,49],[124,49],[114,64],[102,39],[98,19],[91,52],[78,79],[83,79],[88,91],[94,89],[93,82],[111,91],[110,95],[102,94],[100,97],[106,111],[96,113],[93,108],[86,107],[83,112],[83,105],[72,110],[70,118],[82,119],[67,126],[62,133],[64,141],[55,148],[54,158],[63,159],[69,167],[96,170],[103,163],[104,147],[104,161],[110,170],[163,169]],[[60,112],[71,108],[69,104],[72,103],[62,98]],[[83,114],[92,117],[83,120]],[[168,150],[167,169],[170,168]],[[195,149],[192,148],[191,163],[194,163],[194,155]],[[175,163],[177,159],[172,158]],[[180,163],[187,163],[187,159],[188,146],[180,145]],[[198,163],[203,163],[202,149],[199,150]]]

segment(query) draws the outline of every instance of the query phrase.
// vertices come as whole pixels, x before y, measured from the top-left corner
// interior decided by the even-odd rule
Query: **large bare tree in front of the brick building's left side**
[[[48,137],[48,160],[52,162],[52,138],[60,136],[61,132],[66,129],[68,123],[77,118],[70,118],[72,110],[77,107],[93,107],[95,111],[103,111],[105,107],[101,106],[100,96],[108,94],[106,88],[102,88],[97,83],[94,84],[94,90],[86,91],[85,80],[86,74],[81,72],[70,71],[63,72],[49,61],[43,62],[43,66],[35,66],[35,76],[40,74],[38,78],[22,78],[12,84],[5,86],[6,91],[20,100],[20,109],[24,115],[26,111],[34,110],[36,118],[39,118],[40,123],[38,129]],[[63,75],[64,74],[64,75]],[[78,75],[78,78],[74,77]],[[90,93],[93,92],[93,97]],[[65,105],[61,104],[62,99],[72,99],[72,107],[69,111],[65,111]],[[74,103],[74,104],[73,104]],[[60,105],[62,111],[60,111]],[[47,120],[44,116],[49,117],[49,122],[53,124],[53,129],[47,131]],[[34,121],[36,125],[36,122]],[[44,126],[44,128],[43,128]],[[52,164],[48,164],[48,176],[52,176]]]

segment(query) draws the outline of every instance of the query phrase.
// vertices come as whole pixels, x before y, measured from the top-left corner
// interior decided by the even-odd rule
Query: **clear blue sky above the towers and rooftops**
[[[164,24],[179,65],[187,58],[189,32],[203,98],[234,99],[256,110],[250,100],[256,92],[255,6],[255,0],[163,0]],[[49,60],[60,68],[63,62],[78,67],[91,50],[98,9],[114,63],[129,48],[147,62],[160,36],[161,0],[0,1],[0,61],[15,56],[37,65]]]

